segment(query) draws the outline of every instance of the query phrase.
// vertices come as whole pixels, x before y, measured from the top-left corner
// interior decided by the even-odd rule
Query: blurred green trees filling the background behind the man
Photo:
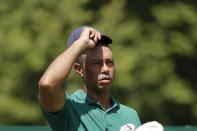
[[[197,1],[0,0],[0,125],[47,124],[38,81],[81,25],[113,38],[112,94],[142,123],[197,124]]]

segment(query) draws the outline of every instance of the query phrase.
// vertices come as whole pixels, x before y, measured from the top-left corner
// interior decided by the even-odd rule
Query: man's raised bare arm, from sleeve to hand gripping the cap
[[[66,99],[63,84],[72,65],[82,52],[94,48],[100,39],[99,32],[84,28],[80,38],[50,64],[39,81],[40,104],[47,112],[58,112],[63,108]]]

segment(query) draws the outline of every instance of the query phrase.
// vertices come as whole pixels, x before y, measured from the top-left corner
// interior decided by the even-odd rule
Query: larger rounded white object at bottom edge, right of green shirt
[[[138,127],[135,131],[164,131],[163,126],[156,121],[147,122]]]

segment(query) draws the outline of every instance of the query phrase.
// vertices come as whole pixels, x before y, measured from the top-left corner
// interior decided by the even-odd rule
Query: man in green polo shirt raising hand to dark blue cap
[[[141,124],[136,111],[110,95],[115,77],[111,43],[111,38],[92,27],[77,28],[69,37],[68,49],[40,79],[41,109],[54,131],[118,131],[127,124]],[[63,84],[73,65],[83,87],[69,95]]]

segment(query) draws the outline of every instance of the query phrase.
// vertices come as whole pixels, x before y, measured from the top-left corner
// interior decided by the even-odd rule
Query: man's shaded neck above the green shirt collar
[[[83,86],[83,91],[90,97],[94,102],[100,102],[104,109],[108,109],[111,105],[110,103],[110,91],[94,91]]]

